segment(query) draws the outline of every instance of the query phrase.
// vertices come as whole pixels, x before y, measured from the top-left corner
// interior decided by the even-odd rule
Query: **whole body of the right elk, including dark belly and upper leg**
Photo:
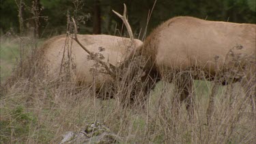
[[[223,84],[242,81],[255,106],[255,37],[252,24],[179,16],[154,29],[135,55],[147,59],[144,69],[153,83],[158,79],[175,82],[180,101],[188,100],[187,109],[192,80],[202,78],[218,78]],[[171,74],[179,78],[174,81]]]

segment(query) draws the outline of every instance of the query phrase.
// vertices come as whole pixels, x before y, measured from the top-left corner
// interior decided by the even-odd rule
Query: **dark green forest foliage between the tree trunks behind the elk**
[[[78,0],[76,0],[78,1]],[[48,20],[41,21],[40,31],[44,35],[55,35],[66,32],[66,15],[68,11],[71,16],[86,16],[86,24],[81,25],[80,33],[92,33],[94,20],[94,1],[81,0],[83,4],[79,5],[79,11],[74,6],[74,0],[40,0],[42,8],[41,16],[47,16]],[[31,1],[25,0],[27,8],[31,7]],[[128,7],[129,23],[134,33],[139,36],[142,29],[145,31],[147,25],[148,12],[152,10],[154,0],[128,1],[128,0],[111,0],[100,1],[101,9],[101,29],[102,33],[113,35],[124,35],[122,31],[122,21],[119,20],[111,10],[122,12],[123,3]],[[18,7],[14,1],[1,1],[1,31],[5,33],[11,28],[18,32]],[[76,13],[77,12],[77,13]],[[8,16],[6,16],[8,14]],[[147,31],[150,32],[162,21],[172,18],[173,16],[195,16],[198,18],[207,18],[208,20],[223,20],[235,23],[255,23],[255,0],[162,0],[156,1],[154,11],[151,16]],[[25,17],[31,18],[28,9],[25,10]],[[26,22],[27,23],[27,22]],[[115,31],[115,26],[117,29]]]

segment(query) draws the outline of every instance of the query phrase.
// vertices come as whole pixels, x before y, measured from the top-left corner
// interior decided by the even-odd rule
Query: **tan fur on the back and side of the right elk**
[[[242,49],[236,50],[237,55],[255,58],[255,39],[253,24],[179,16],[154,29],[145,40],[142,53],[157,67],[172,70],[197,67],[214,75],[216,68],[232,63],[225,57],[238,44]]]

